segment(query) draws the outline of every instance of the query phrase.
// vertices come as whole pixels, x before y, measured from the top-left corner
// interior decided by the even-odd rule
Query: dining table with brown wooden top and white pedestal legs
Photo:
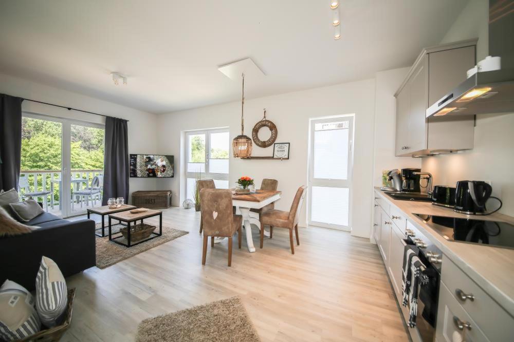
[[[260,209],[269,203],[272,203],[280,198],[281,191],[264,191],[257,190],[253,194],[233,194],[232,205],[236,207],[236,214],[243,216],[243,226],[245,227],[246,242],[248,244],[248,251],[255,252],[252,239],[251,224],[255,224],[261,229],[261,222],[259,221],[259,214],[250,212],[250,209]],[[269,236],[269,233],[264,232],[264,235]]]

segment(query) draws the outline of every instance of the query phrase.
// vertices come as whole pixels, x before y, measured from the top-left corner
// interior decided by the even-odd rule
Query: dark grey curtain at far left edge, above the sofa
[[[22,98],[0,94],[0,189],[16,188],[22,155]]]

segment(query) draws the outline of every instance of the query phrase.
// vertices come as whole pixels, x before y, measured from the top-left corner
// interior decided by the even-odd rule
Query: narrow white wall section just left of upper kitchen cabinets
[[[395,157],[396,98],[394,93],[405,79],[409,67],[375,74],[375,165],[373,185],[382,185],[382,171],[394,168],[421,167],[419,158]]]

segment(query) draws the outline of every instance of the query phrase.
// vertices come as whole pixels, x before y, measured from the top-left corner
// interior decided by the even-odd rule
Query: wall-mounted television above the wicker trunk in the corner
[[[131,177],[173,177],[173,156],[130,155]]]

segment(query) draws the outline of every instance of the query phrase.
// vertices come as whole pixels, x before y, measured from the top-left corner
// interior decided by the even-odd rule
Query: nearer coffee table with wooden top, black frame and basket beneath
[[[159,233],[152,232],[152,233],[150,233],[148,238],[143,239],[143,240],[138,240],[136,243],[132,243],[131,227],[134,227],[138,221],[140,221],[140,224],[143,225],[144,224],[143,220],[145,218],[150,218],[150,217],[155,217],[155,216],[159,216]],[[127,229],[126,229],[127,243],[117,241],[118,239],[124,238],[124,236],[121,232],[119,232],[120,233],[119,236],[113,237],[111,220],[118,220],[118,221],[126,222],[126,224],[127,224]],[[161,211],[149,209],[148,211],[142,212],[142,213],[134,213],[133,214],[130,211],[124,211],[124,212],[120,212],[120,213],[109,214],[109,240],[116,242],[118,244],[121,244],[122,246],[132,247],[132,246],[135,246],[136,244],[151,240],[151,239],[156,238],[161,235],[162,235],[162,212]]]

